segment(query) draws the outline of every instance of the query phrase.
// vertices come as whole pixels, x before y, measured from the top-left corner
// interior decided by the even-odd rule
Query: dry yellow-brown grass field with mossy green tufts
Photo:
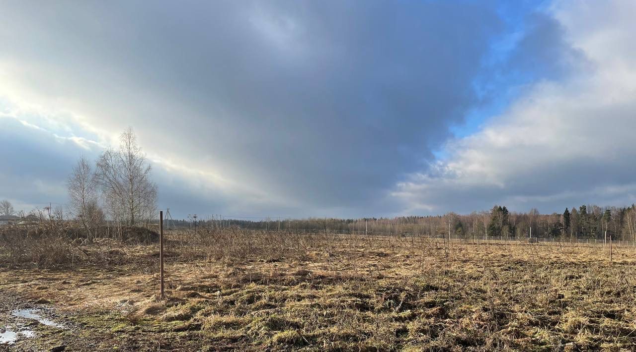
[[[167,238],[163,300],[157,244],[59,244],[65,263],[11,262],[3,249],[0,324],[34,337],[0,350],[636,349],[630,247],[614,248],[610,264],[607,249],[570,244],[241,230]],[[24,308],[62,326],[15,315]]]

